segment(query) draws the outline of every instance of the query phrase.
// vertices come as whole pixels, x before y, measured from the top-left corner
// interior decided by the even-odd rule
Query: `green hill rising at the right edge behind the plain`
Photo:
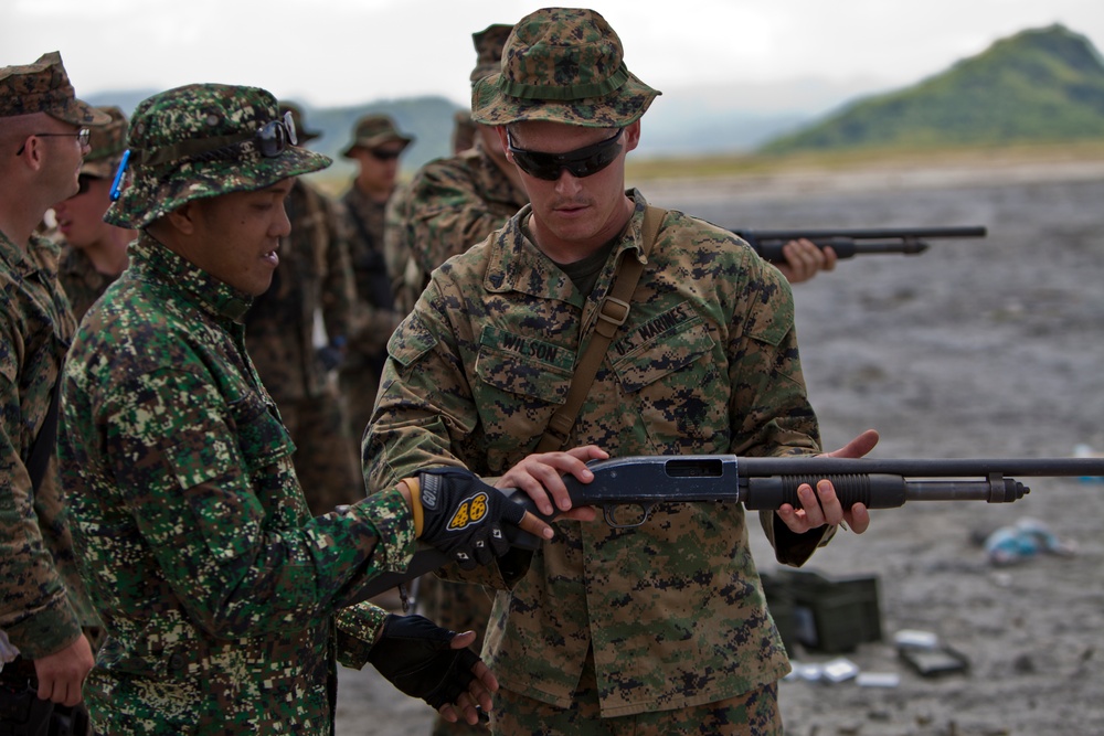
[[[1104,62],[1062,25],[994,43],[947,72],[852,103],[763,153],[1104,139]]]

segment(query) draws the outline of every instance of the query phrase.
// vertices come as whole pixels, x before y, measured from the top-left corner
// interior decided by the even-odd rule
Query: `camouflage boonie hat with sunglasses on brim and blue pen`
[[[104,220],[138,230],[185,202],[265,189],[332,163],[289,141],[264,156],[258,134],[286,140],[283,126],[276,98],[258,87],[193,84],[144,99],[130,119],[123,196]]]

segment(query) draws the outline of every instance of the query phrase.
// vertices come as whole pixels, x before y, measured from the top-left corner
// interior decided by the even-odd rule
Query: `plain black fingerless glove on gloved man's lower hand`
[[[455,636],[424,616],[391,614],[368,661],[395,687],[437,710],[467,692],[479,661],[470,649],[449,646]]]

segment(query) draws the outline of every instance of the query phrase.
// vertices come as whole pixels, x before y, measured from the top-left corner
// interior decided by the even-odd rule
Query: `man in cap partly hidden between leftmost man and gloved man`
[[[98,109],[112,121],[92,131],[92,151],[81,167],[81,191],[54,205],[64,238],[57,275],[77,322],[127,267],[127,244],[135,236],[131,230],[104,222],[112,204],[112,180],[127,147],[127,118],[118,107]]]

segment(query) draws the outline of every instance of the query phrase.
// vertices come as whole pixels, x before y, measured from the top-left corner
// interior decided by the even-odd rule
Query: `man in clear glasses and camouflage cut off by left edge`
[[[67,706],[93,665],[82,629],[98,621],[77,576],[49,418],[76,324],[57,246],[35,228],[77,191],[85,126],[107,120],[74,97],[57,52],[0,68],[0,629],[33,663],[20,669],[39,697]],[[4,680],[17,672],[6,668]]]

